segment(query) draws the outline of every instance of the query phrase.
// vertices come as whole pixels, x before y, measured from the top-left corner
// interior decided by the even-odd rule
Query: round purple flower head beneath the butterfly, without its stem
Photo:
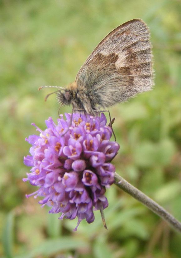
[[[45,121],[45,131],[36,127],[40,135],[26,138],[32,147],[24,163],[32,169],[23,181],[39,187],[26,197],[43,196],[39,203],[51,206],[50,213],[61,212],[60,219],[77,216],[77,230],[81,220],[94,221],[93,207],[102,210],[108,206],[105,188],[114,182],[115,171],[109,161],[117,154],[119,144],[109,141],[112,130],[106,126],[103,113],[101,117],[74,113],[71,127],[71,114],[65,117],[66,121],[61,115],[58,125],[50,117]]]

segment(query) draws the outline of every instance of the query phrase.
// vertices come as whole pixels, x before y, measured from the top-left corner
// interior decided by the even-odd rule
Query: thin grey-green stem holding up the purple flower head
[[[136,200],[140,201],[146,207],[148,207],[151,211],[155,212],[162,219],[167,221],[174,229],[181,233],[181,223],[174,218],[168,211],[166,211],[163,207],[161,207],[158,203],[153,201],[150,197],[146,196],[136,187],[132,186],[128,183],[124,178],[118,175],[115,172],[114,175],[115,182],[114,184],[121,188],[123,191],[134,197]]]

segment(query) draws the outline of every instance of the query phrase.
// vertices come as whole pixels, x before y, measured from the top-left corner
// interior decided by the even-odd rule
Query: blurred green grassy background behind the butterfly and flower
[[[150,27],[155,87],[110,108],[120,151],[113,164],[134,186],[181,220],[181,2],[179,0],[0,1],[0,256],[16,258],[180,258],[181,236],[115,185],[107,190],[108,227],[63,222],[23,182],[23,156],[45,119],[58,118],[51,89],[73,82],[112,29],[133,18]],[[71,108],[61,108],[61,113]]]

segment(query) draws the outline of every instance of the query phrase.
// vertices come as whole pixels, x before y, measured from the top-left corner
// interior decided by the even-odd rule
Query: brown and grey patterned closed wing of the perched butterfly
[[[151,90],[152,52],[145,22],[134,19],[110,32],[84,62],[75,81],[93,108],[112,106]]]

